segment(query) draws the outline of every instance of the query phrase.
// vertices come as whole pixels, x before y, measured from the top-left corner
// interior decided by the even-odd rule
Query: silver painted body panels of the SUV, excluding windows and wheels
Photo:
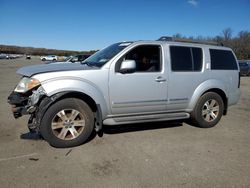
[[[140,45],[158,45],[162,69],[159,72],[121,74],[115,71],[118,60]],[[203,52],[203,68],[199,72],[172,72],[169,46],[199,47]],[[135,114],[191,112],[206,91],[220,89],[228,105],[239,100],[238,70],[211,70],[209,49],[229,48],[166,41],[131,43],[103,67],[82,64],[41,65],[22,68],[18,73],[38,79],[47,96],[59,92],[79,92],[99,104],[102,119]],[[132,62],[131,62],[132,63]],[[126,65],[127,66],[127,65]],[[129,67],[132,65],[130,64]],[[160,118],[159,118],[160,119]],[[177,118],[176,118],[177,119]],[[105,121],[104,121],[105,122]]]

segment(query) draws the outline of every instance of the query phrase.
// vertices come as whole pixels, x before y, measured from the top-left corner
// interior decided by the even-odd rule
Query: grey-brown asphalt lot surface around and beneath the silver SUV
[[[17,120],[7,97],[15,71],[38,58],[0,60],[1,187],[250,187],[250,77],[241,99],[210,129],[161,122],[104,127],[81,146],[56,149],[21,139],[28,117]]]

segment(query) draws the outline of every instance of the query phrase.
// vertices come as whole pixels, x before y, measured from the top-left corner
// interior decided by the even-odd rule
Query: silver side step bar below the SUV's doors
[[[135,115],[135,116],[123,116],[123,117],[111,117],[105,119],[103,124],[105,125],[120,125],[120,124],[132,124],[132,123],[145,123],[155,121],[168,121],[168,120],[179,120],[188,119],[189,113],[178,112],[168,114],[147,114],[147,115]]]

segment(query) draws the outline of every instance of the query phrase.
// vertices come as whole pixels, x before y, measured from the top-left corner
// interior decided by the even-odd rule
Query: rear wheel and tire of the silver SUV
[[[214,127],[221,119],[224,103],[220,95],[208,92],[201,96],[191,113],[192,124],[201,128]]]

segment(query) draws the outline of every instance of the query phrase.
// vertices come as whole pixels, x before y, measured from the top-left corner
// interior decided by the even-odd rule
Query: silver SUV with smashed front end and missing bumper
[[[190,119],[216,125],[240,95],[229,48],[162,37],[113,44],[79,64],[23,67],[8,98],[15,118],[54,147],[80,145],[102,125]]]

